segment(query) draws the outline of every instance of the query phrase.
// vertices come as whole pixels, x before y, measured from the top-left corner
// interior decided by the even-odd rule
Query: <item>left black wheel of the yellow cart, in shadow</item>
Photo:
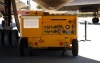
[[[20,48],[20,56],[26,56],[28,55],[28,42],[27,42],[27,38],[22,38],[20,40],[20,45],[19,45],[19,48]]]

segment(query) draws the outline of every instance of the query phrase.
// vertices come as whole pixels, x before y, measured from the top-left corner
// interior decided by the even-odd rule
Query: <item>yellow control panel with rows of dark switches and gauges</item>
[[[53,16],[54,17],[54,16]],[[56,17],[56,16],[55,16]],[[66,18],[52,18],[43,21],[43,34],[75,34],[76,33],[76,20]]]

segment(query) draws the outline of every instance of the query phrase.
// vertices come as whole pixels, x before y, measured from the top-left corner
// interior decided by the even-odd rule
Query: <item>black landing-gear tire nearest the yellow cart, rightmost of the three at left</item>
[[[14,47],[14,46],[17,46],[17,44],[18,44],[18,31],[17,30],[12,30],[11,45]]]

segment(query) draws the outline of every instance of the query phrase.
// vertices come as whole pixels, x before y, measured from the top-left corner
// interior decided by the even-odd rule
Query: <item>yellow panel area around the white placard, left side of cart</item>
[[[30,18],[31,19],[31,18]],[[24,28],[24,18],[21,19],[22,37],[40,37],[41,36],[41,19],[39,19],[39,28]]]

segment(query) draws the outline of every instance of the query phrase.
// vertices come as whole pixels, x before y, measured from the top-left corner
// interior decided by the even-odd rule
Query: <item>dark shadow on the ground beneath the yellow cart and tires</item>
[[[82,56],[62,56],[62,50],[33,50],[32,56],[20,57],[18,48],[0,48],[0,63],[100,63]]]

